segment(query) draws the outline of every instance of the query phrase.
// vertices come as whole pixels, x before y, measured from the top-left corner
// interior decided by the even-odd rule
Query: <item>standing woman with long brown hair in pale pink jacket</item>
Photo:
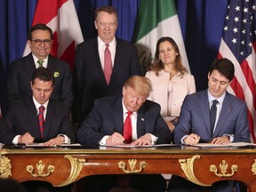
[[[182,65],[178,45],[171,37],[157,41],[155,60],[146,77],[153,88],[148,100],[160,104],[161,116],[173,131],[182,102],[187,94],[196,92],[196,84],[194,76]]]

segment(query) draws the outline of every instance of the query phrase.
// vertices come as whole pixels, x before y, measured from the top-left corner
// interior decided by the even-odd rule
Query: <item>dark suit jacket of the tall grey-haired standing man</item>
[[[120,94],[124,82],[133,75],[141,76],[136,46],[116,38],[116,57],[109,84],[107,84],[98,51],[97,37],[76,47],[74,87],[83,117],[101,97]]]

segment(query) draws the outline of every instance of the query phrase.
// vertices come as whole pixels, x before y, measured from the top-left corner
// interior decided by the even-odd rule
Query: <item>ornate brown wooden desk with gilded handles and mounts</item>
[[[201,185],[243,181],[256,191],[254,148],[25,148],[0,150],[0,177],[66,186],[95,174],[172,173]]]

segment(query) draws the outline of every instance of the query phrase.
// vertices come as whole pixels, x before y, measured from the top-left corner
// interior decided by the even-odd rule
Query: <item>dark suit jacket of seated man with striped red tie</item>
[[[0,142],[12,143],[13,138],[25,132],[35,137],[35,142],[45,142],[62,133],[71,142],[76,142],[76,132],[71,124],[68,108],[58,100],[51,100],[47,106],[44,122],[44,138],[41,139],[36,106],[32,98],[14,100],[6,116],[0,120]]]

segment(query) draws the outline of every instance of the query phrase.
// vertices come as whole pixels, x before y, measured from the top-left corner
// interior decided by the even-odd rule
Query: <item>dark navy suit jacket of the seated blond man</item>
[[[78,141],[85,146],[97,146],[105,135],[112,135],[115,130],[123,134],[123,119],[122,96],[95,100],[91,112],[78,129]],[[160,106],[150,100],[141,106],[137,117],[138,138],[146,133],[158,137],[157,144],[172,141],[172,132],[160,115]]]

